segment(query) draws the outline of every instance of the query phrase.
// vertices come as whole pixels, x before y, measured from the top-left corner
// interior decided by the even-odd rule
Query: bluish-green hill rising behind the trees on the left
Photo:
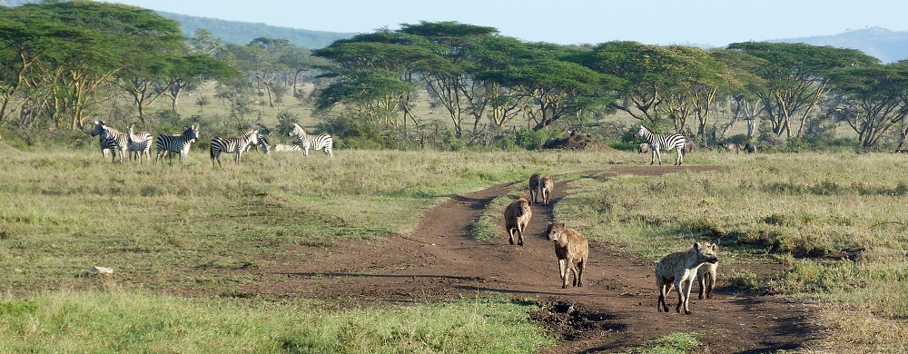
[[[291,44],[309,49],[318,49],[333,43],[338,39],[350,38],[353,34],[339,32],[311,31],[291,27],[279,27],[265,24],[252,24],[239,21],[225,21],[216,18],[179,15],[158,11],[159,15],[180,22],[183,34],[192,37],[199,28],[212,32],[214,36],[224,42],[232,44],[248,44],[253,39],[267,37],[286,39]]]

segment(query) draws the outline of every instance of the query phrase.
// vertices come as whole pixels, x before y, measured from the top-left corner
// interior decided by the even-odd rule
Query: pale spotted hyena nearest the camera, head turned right
[[[696,280],[696,270],[704,263],[716,263],[716,245],[708,242],[694,242],[694,247],[686,251],[676,251],[662,258],[656,264],[656,286],[659,288],[659,300],[656,303],[658,310],[668,312],[666,296],[674,285],[678,292],[678,304],[675,311],[681,313],[684,308],[686,315],[690,314],[687,300],[690,298],[690,288]]]

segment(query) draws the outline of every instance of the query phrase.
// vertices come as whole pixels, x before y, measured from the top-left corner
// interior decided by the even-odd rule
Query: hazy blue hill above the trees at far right
[[[857,49],[864,54],[880,59],[883,63],[908,59],[908,32],[895,32],[882,27],[868,27],[842,34],[775,39],[766,42],[804,43]]]

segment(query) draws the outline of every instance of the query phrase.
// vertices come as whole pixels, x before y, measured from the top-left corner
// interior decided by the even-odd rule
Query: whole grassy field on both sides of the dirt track
[[[537,171],[576,178],[556,215],[592,240],[653,260],[691,240],[718,241],[724,261],[785,264],[779,280],[720,276],[821,304],[814,320],[829,332],[824,346],[876,351],[908,342],[901,155],[701,152],[686,160],[716,172],[594,182],[578,172],[644,159],[611,151],[343,151],[333,160],[250,153],[240,167],[212,169],[199,150],[173,166],[112,165],[87,149],[20,152],[0,143],[0,152],[0,352],[535,351],[552,339],[528,320],[532,303],[482,296],[331,310],[231,296],[271,280],[202,270],[271,266],[286,246],[407,233],[452,193],[500,182],[522,188]],[[87,276],[92,266],[113,267],[115,281]]]

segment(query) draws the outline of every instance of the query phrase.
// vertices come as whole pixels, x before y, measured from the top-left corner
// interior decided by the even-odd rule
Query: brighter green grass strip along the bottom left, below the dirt
[[[457,300],[369,310],[67,290],[0,300],[0,352],[532,352],[533,305]]]

